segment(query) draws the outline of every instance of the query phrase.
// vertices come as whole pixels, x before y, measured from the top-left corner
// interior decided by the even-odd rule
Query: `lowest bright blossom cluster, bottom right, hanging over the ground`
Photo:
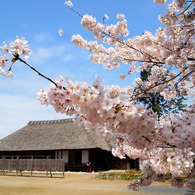
[[[162,182],[164,181],[163,175],[167,173],[171,173],[172,175],[170,179],[171,185],[181,187],[185,182],[179,176],[190,175],[194,167],[193,157],[195,153],[192,152],[192,148],[181,147],[181,149],[178,149],[158,147],[151,150],[138,150],[127,144],[125,139],[120,138],[112,149],[112,154],[121,159],[126,156],[133,159],[148,159],[144,160],[140,167],[144,172],[142,177],[134,180],[134,182],[129,185],[129,188],[133,190],[138,190],[141,186],[148,186],[153,181]],[[189,182],[189,184],[190,183],[192,182]]]

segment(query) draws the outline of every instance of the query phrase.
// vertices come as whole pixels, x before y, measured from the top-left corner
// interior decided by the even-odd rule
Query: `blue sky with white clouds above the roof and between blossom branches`
[[[68,37],[60,37],[58,30],[72,36],[81,34],[85,39],[93,36],[80,25],[81,18],[64,5],[64,0],[7,0],[0,6],[0,45],[10,43],[15,37],[25,37],[33,51],[27,60],[40,72],[56,80],[58,75],[73,77],[76,81],[92,82],[94,75],[104,79],[104,85],[131,85],[133,77],[119,80],[118,74],[128,67],[104,70],[102,65],[92,64],[89,53],[71,43]],[[161,26],[158,15],[164,14],[167,5],[154,4],[152,0],[73,0],[74,9],[82,15],[89,14],[102,21],[109,16],[107,24],[116,23],[116,14],[125,14],[129,37],[142,35],[144,30],[155,33]],[[169,2],[169,1],[168,1]],[[1,53],[2,55],[2,53]],[[22,128],[30,120],[67,118],[53,108],[41,106],[37,92],[50,83],[39,77],[25,65],[17,62],[9,79],[0,75],[0,139]]]

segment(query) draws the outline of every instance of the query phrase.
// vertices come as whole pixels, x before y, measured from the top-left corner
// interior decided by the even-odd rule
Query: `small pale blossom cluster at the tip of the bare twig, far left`
[[[11,68],[13,63],[17,60],[17,57],[20,54],[23,54],[24,58],[28,59],[29,54],[32,53],[27,43],[28,41],[24,37],[22,37],[21,39],[16,37],[16,40],[10,43],[10,48],[5,42],[3,42],[3,47],[0,47],[0,51],[4,53],[3,56],[0,56],[0,74],[5,77],[13,77]],[[7,54],[12,54],[14,57],[12,57],[11,59],[6,59]],[[12,63],[12,65],[7,71],[5,71],[5,67],[8,63]]]

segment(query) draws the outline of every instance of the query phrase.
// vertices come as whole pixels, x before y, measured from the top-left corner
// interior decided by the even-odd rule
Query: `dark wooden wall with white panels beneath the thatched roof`
[[[0,159],[64,159],[66,171],[87,171],[87,161],[91,161],[92,171],[139,169],[138,160],[129,158],[121,160],[114,157],[111,152],[98,148],[0,152]]]

